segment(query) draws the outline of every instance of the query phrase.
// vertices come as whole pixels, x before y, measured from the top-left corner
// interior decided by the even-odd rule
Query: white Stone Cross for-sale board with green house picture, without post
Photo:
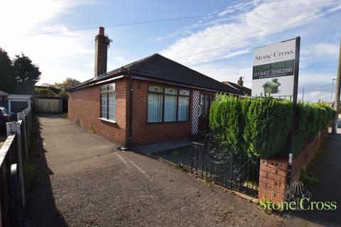
[[[252,96],[293,96],[296,39],[254,50]]]

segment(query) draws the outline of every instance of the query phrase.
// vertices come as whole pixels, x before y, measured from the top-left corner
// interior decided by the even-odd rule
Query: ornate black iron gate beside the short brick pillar
[[[259,160],[253,161],[242,151],[229,150],[210,133],[204,143],[192,145],[190,170],[195,175],[244,194],[257,197]]]

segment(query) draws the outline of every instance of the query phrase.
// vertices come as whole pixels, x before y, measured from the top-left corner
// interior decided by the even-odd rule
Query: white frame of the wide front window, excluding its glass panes
[[[154,92],[154,91],[149,91],[150,86],[157,86],[157,87],[162,87],[162,92]],[[166,88],[172,88],[176,89],[176,94],[166,94]],[[180,94],[180,90],[186,90],[188,91],[188,95],[185,94]],[[190,96],[191,96],[191,89],[184,88],[184,87],[178,87],[178,86],[168,86],[168,85],[161,85],[161,84],[154,84],[154,83],[149,83],[147,86],[147,114],[146,114],[146,123],[147,124],[156,124],[156,123],[181,123],[181,122],[189,122],[190,121]],[[161,107],[161,121],[157,122],[148,122],[148,94],[161,94],[162,95],[162,107]],[[176,96],[176,106],[175,106],[175,121],[165,121],[165,96]],[[185,121],[178,121],[178,106],[179,106],[179,96],[183,97],[188,97],[188,116],[187,120]]]

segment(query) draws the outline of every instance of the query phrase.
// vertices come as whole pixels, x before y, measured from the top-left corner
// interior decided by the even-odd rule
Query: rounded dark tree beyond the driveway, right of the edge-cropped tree
[[[13,76],[16,79],[17,94],[31,94],[34,84],[40,79],[39,67],[34,65],[27,56],[16,55],[13,60]]]

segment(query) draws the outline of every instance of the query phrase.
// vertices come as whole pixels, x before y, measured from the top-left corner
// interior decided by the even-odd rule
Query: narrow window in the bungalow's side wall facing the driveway
[[[100,118],[116,121],[116,93],[115,83],[101,86],[101,114]]]

